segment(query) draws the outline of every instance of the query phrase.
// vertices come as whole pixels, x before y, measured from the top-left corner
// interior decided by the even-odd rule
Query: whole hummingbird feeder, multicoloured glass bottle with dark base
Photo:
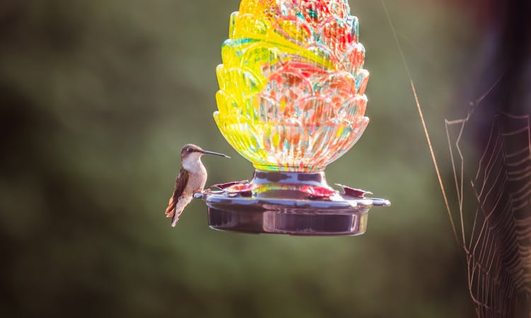
[[[372,206],[389,206],[370,192],[338,192],[324,175],[369,123],[364,58],[347,0],[241,0],[216,69],[214,119],[256,171],[195,195],[211,228],[359,235]]]

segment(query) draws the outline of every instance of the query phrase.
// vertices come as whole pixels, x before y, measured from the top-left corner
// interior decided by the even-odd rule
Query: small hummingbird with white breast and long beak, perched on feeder
[[[177,225],[184,208],[192,201],[196,192],[201,192],[207,182],[207,170],[202,165],[201,156],[205,154],[221,155],[230,158],[223,153],[205,151],[200,146],[192,143],[184,145],[181,149],[181,172],[175,180],[175,190],[166,208],[166,218],[171,218],[171,226]]]

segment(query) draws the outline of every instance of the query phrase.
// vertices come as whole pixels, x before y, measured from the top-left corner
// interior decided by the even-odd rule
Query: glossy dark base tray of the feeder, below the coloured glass
[[[310,196],[304,187],[331,189],[324,172],[256,171],[249,192],[205,191],[198,194],[208,206],[208,224],[216,230],[290,235],[360,235],[367,228],[372,206],[389,206],[384,199],[333,192]]]

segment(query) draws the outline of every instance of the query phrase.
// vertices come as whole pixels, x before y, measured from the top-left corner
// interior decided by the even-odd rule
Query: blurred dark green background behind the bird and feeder
[[[386,4],[451,182],[443,119],[461,106],[476,30],[446,1]],[[253,172],[212,119],[215,67],[238,6],[0,1],[1,317],[474,314],[380,1],[350,0],[367,49],[371,123],[326,170],[331,184],[392,201],[372,209],[365,235],[218,232],[198,200],[169,226],[184,143],[233,157],[203,160],[207,184]]]

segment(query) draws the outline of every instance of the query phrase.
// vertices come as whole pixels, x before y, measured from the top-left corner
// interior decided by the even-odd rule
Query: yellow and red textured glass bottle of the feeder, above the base
[[[258,170],[319,172],[362,135],[365,48],[346,0],[242,0],[214,118]]]

